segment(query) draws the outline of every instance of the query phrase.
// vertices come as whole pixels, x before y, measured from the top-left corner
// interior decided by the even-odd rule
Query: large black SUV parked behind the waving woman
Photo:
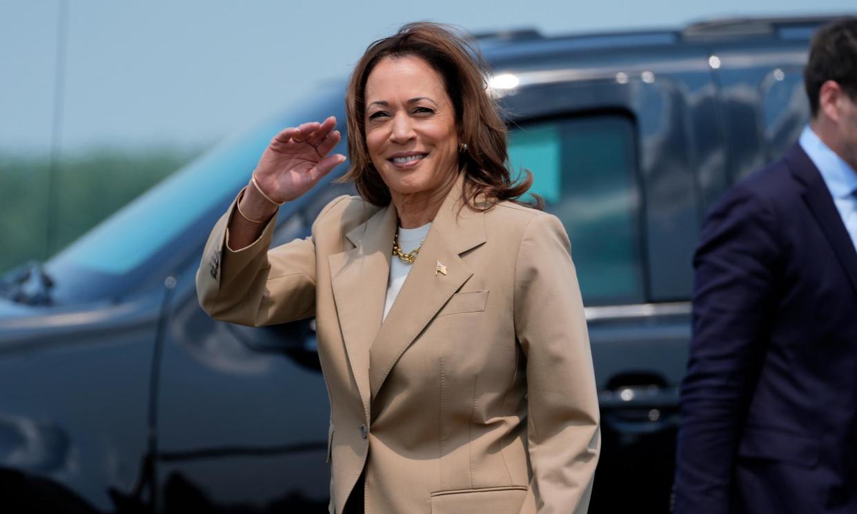
[[[668,511],[698,226],[729,184],[796,140],[801,70],[825,21],[476,36],[511,164],[533,170],[572,240],[602,407],[592,511]],[[211,320],[194,275],[268,140],[345,119],[344,91],[225,140],[44,266],[5,277],[0,511],[326,511],[313,321]],[[351,192],[331,183],[283,206],[274,243],[308,235]]]

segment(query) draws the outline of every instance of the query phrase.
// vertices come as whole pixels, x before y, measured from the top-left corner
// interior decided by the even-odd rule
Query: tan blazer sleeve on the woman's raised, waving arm
[[[196,272],[200,306],[216,320],[246,326],[312,317],[315,315],[314,237],[296,239],[269,250],[277,224],[275,214],[255,242],[232,250],[227,245],[227,227],[240,196],[232,201],[208,236]],[[328,204],[315,224],[343,198],[346,197]]]

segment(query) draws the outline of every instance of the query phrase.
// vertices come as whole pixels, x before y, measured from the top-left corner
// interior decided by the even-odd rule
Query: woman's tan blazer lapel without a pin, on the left
[[[396,209],[381,209],[345,236],[355,248],[327,258],[339,328],[351,373],[369,413],[369,346],[381,327]]]

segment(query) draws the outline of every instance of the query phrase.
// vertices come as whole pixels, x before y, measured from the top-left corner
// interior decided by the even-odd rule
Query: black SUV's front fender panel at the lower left
[[[147,509],[162,298],[21,308],[0,320],[0,511]]]

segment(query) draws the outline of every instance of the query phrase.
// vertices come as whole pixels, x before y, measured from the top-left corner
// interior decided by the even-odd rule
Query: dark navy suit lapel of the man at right
[[[830,189],[827,188],[815,164],[812,164],[812,159],[806,155],[800,145],[792,147],[786,154],[786,160],[789,170],[803,183],[804,201],[824,232],[824,237],[833,247],[839,263],[848,275],[848,281],[854,293],[857,294],[857,250],[854,249],[854,242],[848,236],[848,230],[842,223],[839,211],[836,210],[836,205],[830,196]]]

